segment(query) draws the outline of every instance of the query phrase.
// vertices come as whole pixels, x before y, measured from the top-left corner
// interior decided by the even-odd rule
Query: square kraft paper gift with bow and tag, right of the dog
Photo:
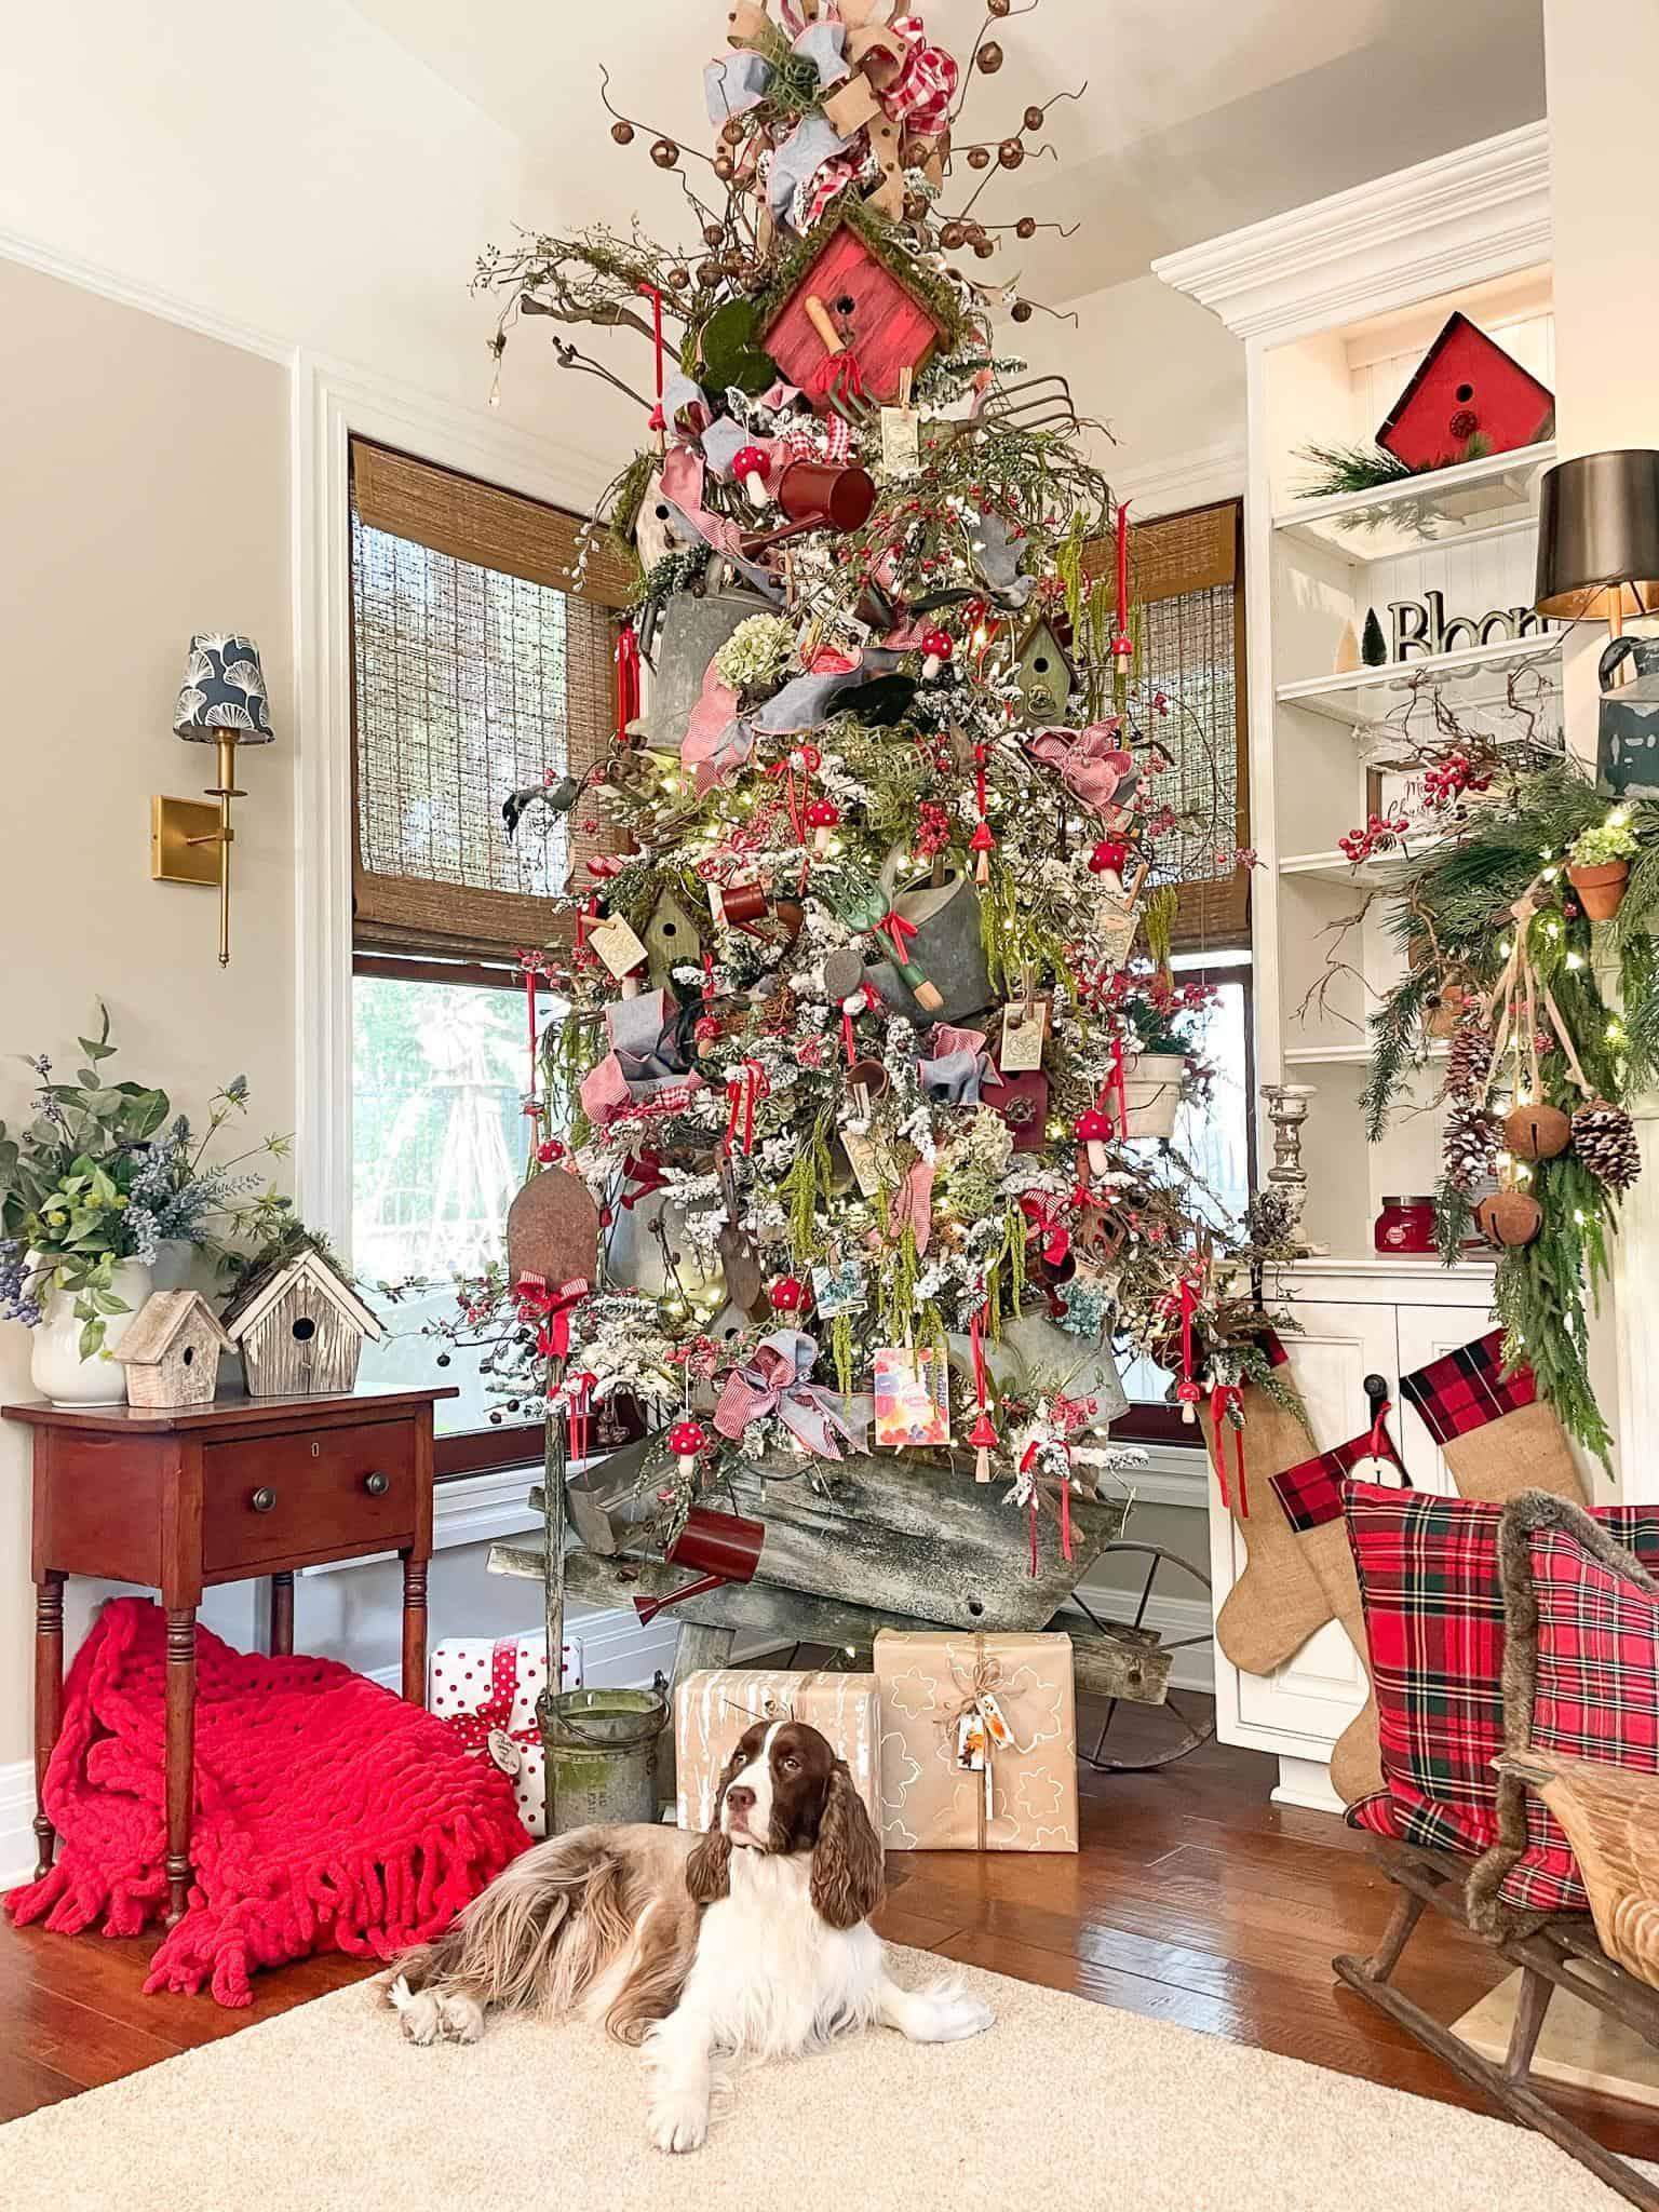
[[[876,1635],[889,1851],[1075,1851],[1071,1637]]]

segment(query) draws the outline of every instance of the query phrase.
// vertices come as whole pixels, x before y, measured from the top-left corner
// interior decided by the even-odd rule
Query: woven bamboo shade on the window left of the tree
[[[582,774],[615,726],[619,562],[571,586],[580,518],[352,440],[354,940],[546,945],[595,841],[507,838],[502,799]],[[582,807],[577,807],[582,816]]]

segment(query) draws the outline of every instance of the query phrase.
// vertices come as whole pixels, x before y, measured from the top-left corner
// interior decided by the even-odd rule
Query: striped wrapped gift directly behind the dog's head
[[[721,1767],[757,1721],[805,1721],[847,1761],[854,1790],[880,1834],[880,1703],[874,1674],[781,1674],[768,1668],[706,1668],[675,1690],[675,1818],[714,1825]]]

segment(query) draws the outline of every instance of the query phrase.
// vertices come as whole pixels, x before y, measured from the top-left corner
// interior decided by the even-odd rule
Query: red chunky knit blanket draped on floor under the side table
[[[137,1936],[166,1909],[166,1624],[117,1597],[69,1674],[46,1770],[58,1865],[13,1889],[18,1924]],[[438,1936],[529,1845],[513,1785],[442,1721],[334,1659],[263,1659],[197,1628],[190,1909],[146,1991],[248,2004],[254,1966],[392,1958]]]

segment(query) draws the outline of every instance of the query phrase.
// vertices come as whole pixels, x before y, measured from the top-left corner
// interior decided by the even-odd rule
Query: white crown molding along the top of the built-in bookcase
[[[1548,261],[1548,124],[1462,146],[1232,230],[1152,272],[1239,338],[1287,338]]]

